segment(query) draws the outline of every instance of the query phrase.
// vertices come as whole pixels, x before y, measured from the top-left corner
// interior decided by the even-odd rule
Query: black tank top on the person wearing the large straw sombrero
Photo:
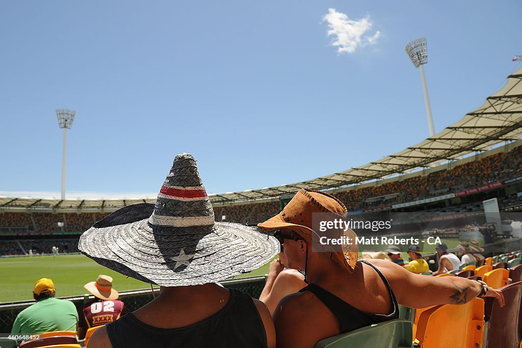
[[[227,305],[216,314],[183,328],[156,328],[132,313],[106,328],[113,348],[267,348],[265,326],[252,297],[237,289],[230,289]]]

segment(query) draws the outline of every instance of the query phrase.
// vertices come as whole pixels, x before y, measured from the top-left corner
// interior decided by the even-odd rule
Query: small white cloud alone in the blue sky
[[[370,16],[361,20],[350,19],[346,14],[329,8],[323,16],[328,22],[328,36],[334,36],[331,44],[337,47],[337,53],[353,53],[359,47],[375,44],[381,36],[380,31],[372,31],[373,22]]]

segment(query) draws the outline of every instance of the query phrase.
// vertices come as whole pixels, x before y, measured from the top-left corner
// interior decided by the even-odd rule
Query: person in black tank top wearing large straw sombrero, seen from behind
[[[275,347],[267,307],[216,282],[266,264],[279,243],[256,227],[214,222],[191,155],[176,156],[155,205],[117,210],[82,234],[78,248],[160,286],[150,303],[94,332],[89,348]]]

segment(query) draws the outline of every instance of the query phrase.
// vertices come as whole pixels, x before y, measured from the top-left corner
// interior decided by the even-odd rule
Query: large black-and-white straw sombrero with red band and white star
[[[78,249],[123,275],[160,286],[214,283],[250,272],[278,252],[256,227],[215,222],[192,155],[180,154],[156,204],[125,206],[80,236]]]

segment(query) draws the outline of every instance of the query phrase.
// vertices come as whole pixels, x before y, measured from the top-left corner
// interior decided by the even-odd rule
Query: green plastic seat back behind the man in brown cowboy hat
[[[394,319],[329,337],[315,348],[411,348],[412,340],[411,322]]]

